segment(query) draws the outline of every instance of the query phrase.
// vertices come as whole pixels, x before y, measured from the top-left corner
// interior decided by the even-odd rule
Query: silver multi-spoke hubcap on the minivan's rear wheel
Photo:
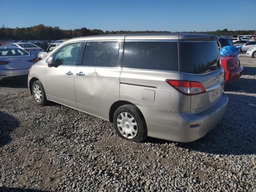
[[[121,113],[117,118],[117,127],[122,136],[132,139],[138,133],[138,125],[134,117],[129,113]]]

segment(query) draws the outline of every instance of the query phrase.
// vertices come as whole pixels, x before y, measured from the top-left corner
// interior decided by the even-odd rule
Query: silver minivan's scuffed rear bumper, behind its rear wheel
[[[202,138],[225,116],[228,97],[224,94],[220,102],[200,113],[170,112],[138,106],[146,120],[148,136],[177,142],[192,142]],[[198,124],[191,128],[191,125]]]

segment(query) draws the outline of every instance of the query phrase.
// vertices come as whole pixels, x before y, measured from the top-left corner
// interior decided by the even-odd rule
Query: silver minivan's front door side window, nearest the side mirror
[[[54,53],[56,65],[76,65],[81,52],[82,43],[70,43]]]

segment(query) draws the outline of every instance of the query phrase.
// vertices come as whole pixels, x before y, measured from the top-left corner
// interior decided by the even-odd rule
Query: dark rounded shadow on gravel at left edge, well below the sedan
[[[0,111],[0,147],[10,142],[9,132],[17,127],[19,127],[19,122],[16,118]]]

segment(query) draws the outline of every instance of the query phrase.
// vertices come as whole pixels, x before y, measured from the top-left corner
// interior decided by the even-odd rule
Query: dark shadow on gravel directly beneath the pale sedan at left
[[[28,88],[28,76],[4,78],[0,81],[0,87]]]

